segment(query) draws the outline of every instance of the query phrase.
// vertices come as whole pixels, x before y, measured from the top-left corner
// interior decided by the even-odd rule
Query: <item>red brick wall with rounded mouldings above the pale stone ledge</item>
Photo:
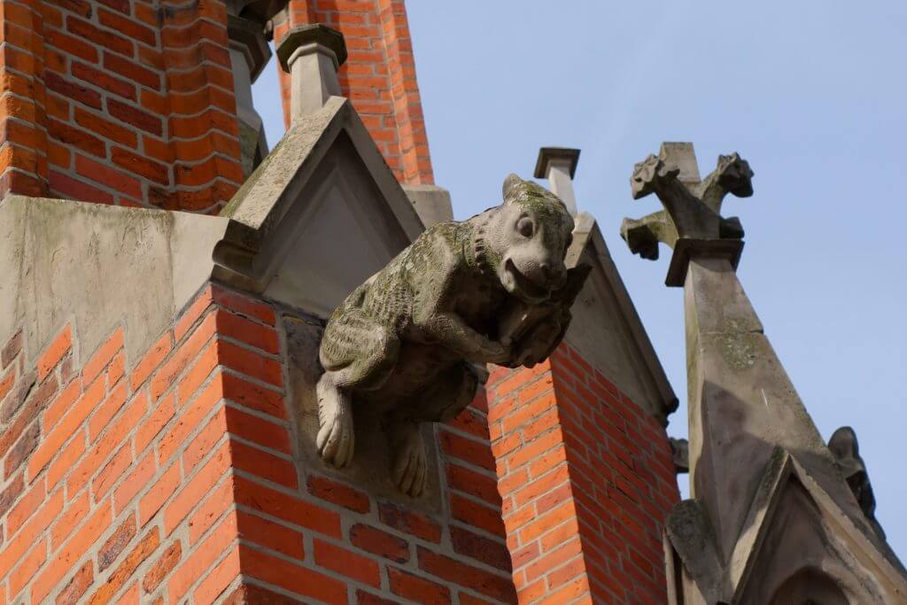
[[[215,211],[242,181],[219,0],[0,0],[0,195]]]

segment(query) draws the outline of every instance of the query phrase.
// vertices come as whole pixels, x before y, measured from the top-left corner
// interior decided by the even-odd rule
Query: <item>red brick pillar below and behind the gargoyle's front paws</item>
[[[666,602],[665,430],[567,344],[494,370],[493,452],[521,603]]]

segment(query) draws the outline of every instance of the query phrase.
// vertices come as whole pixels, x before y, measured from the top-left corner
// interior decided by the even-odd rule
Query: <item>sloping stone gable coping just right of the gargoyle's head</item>
[[[636,358],[633,366],[637,368],[645,385],[644,400],[635,403],[647,408],[660,424],[666,426],[668,415],[678,408],[678,397],[668,382],[668,376],[658,360],[646,328],[643,327],[639,313],[629,298],[627,287],[620,278],[614,260],[611,259],[610,251],[595,218],[587,212],[580,212],[574,220],[573,243],[567,251],[567,266],[576,266],[580,259],[586,262],[591,260],[593,274],[599,273],[603,278],[609,291],[602,294],[612,298],[614,307],[619,312],[624,336],[635,349],[633,356]],[[594,275],[590,276],[587,281],[587,288],[593,281]],[[618,376],[609,376],[609,378],[615,383],[619,382]]]

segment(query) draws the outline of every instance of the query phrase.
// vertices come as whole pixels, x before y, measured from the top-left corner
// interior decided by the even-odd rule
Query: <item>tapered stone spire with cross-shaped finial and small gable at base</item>
[[[721,202],[752,195],[752,176],[734,153],[699,181],[692,145],[665,143],[630,180],[634,199],[655,193],[664,210],[621,235],[647,259],[668,244],[666,283],[684,288],[691,499],[666,523],[668,590],[686,605],[903,602],[907,574],[736,278],[744,232]]]

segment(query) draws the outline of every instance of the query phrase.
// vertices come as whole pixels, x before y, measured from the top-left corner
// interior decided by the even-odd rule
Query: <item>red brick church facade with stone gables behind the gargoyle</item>
[[[420,429],[418,493],[381,418],[356,413],[349,464],[323,459],[328,318],[453,217],[402,0],[2,7],[0,602],[727,600],[724,563],[710,576],[678,538],[706,531],[676,514],[699,445],[668,440],[677,396],[576,210],[579,151],[532,172],[571,214],[564,263],[588,267],[560,345],[480,368],[469,405]],[[268,61],[281,141],[251,100]],[[904,597],[873,556],[855,565],[873,594]]]

